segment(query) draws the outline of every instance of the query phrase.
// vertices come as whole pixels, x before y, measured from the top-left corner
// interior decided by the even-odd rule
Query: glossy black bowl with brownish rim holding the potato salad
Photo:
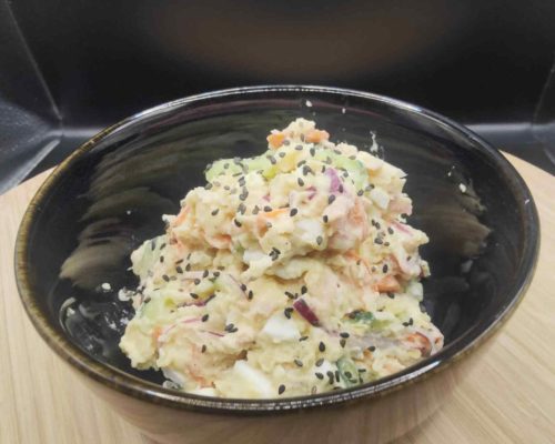
[[[186,191],[203,183],[206,163],[262,152],[269,130],[296,117],[315,120],[333,141],[360,149],[369,149],[376,134],[381,155],[407,172],[406,192],[415,209],[410,222],[431,239],[422,249],[432,269],[424,305],[444,332],[445,347],[391,377],[313,396],[220,400],[163,389],[158,372],[131,369],[118,347],[121,320],[131,309],[117,293],[135,283],[128,271],[129,254],[163,231],[161,214],[178,212]],[[28,314],[48,344],[148,433],[171,441],[192,421],[198,440],[213,440],[213,424],[241,417],[241,424],[251,424],[268,442],[276,436],[270,424],[311,431],[310,418],[315,424],[323,417],[319,406],[355,408],[364,422],[364,412],[376,404],[371,398],[456,361],[500,326],[523,297],[538,243],[536,210],[522,178],[467,129],[364,92],[242,88],[144,111],[77,150],[47,180],[23,218],[17,279]],[[102,285],[107,282],[111,290]],[[67,316],[68,310],[74,314]],[[162,420],[152,421],[162,411],[179,420],[163,426]],[[285,411],[303,412],[299,417],[310,421],[303,425]],[[253,415],[263,413],[280,420],[253,422]],[[244,431],[233,430],[226,441],[245,438]]]

